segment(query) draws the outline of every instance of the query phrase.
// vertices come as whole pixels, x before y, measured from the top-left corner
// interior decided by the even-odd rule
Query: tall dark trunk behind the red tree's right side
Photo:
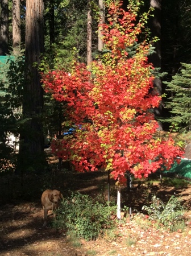
[[[151,36],[157,36],[157,38],[161,38],[161,0],[150,0],[150,5],[155,10],[153,11],[153,17],[151,17]],[[155,68],[161,68],[161,42],[158,40],[153,43],[155,47],[155,53],[150,56],[150,61]],[[156,78],[154,80],[154,86],[157,89],[159,95],[162,94],[162,82],[161,79]],[[155,115],[162,115],[162,105],[160,104],[159,108],[155,108]],[[159,123],[160,130],[162,130],[161,123]]]

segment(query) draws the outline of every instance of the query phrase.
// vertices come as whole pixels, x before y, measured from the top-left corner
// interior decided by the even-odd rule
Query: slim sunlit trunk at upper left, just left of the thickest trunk
[[[13,0],[13,53],[20,53],[20,0]]]

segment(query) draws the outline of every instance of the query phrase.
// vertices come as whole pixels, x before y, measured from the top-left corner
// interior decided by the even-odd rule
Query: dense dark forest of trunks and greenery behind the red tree
[[[123,0],[124,9],[129,2]],[[148,34],[159,40],[152,43],[149,59],[156,68],[155,86],[164,96],[155,109],[164,131],[188,133],[191,127],[190,6],[189,0],[147,0],[140,9],[144,13],[153,7]],[[44,145],[63,136],[65,106],[44,94],[39,73],[48,68],[69,71],[73,58],[89,64],[104,52],[97,32],[104,15],[101,0],[1,1],[1,168],[11,159],[18,172],[43,170]],[[18,138],[19,154],[13,154],[10,134]]]

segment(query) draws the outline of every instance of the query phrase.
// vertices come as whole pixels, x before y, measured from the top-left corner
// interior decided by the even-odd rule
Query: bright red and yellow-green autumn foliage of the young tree
[[[137,11],[137,6],[126,12],[120,3],[111,3],[102,27],[102,57],[89,68],[74,61],[69,73],[54,70],[42,76],[45,92],[65,102],[65,130],[73,128],[72,134],[53,141],[53,151],[77,171],[102,166],[122,182],[127,170],[147,177],[182,154],[171,137],[162,139],[156,132],[152,109],[161,97],[153,89],[150,43],[137,43],[146,19],[137,21]]]

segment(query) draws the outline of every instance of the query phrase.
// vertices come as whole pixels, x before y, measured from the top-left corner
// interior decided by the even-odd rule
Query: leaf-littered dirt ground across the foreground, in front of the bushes
[[[188,193],[190,187],[187,188]],[[186,196],[188,196],[186,193]],[[190,215],[189,215],[190,214]],[[143,216],[121,222],[115,232],[96,241],[71,243],[63,232],[43,228],[43,210],[39,203],[4,205],[0,208],[0,255],[190,256],[191,213],[183,233],[154,229]],[[77,246],[77,247],[76,247]]]

